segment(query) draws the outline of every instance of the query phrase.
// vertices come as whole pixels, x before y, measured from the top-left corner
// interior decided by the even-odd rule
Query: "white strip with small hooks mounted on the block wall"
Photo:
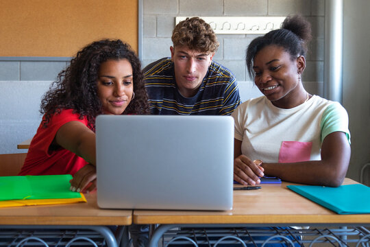
[[[176,25],[190,16],[177,16]],[[216,34],[266,34],[280,28],[286,16],[201,16]]]

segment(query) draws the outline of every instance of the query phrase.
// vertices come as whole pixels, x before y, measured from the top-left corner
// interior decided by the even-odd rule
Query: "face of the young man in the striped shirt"
[[[184,97],[192,97],[206,76],[213,54],[191,50],[186,46],[170,49],[177,87]]]

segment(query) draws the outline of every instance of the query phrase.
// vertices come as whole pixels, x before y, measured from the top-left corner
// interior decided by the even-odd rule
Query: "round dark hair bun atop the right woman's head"
[[[289,30],[304,40],[305,43],[310,42],[312,38],[311,23],[300,15],[287,16],[282,23],[282,29]]]

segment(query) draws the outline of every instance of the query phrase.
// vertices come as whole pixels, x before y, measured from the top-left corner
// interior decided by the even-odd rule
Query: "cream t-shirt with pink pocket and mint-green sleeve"
[[[350,142],[347,111],[338,102],[313,95],[295,108],[282,109],[262,96],[249,99],[232,113],[235,139],[242,154],[267,163],[319,161],[321,144],[336,131]]]

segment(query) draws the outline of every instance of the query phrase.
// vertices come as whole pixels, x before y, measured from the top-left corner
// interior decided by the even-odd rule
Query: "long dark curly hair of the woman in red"
[[[44,128],[50,118],[62,109],[73,109],[73,113],[86,117],[88,126],[95,129],[95,117],[102,114],[101,101],[97,95],[98,71],[101,63],[107,60],[127,59],[134,77],[135,97],[127,106],[125,114],[149,114],[147,91],[144,87],[141,63],[130,45],[121,40],[104,39],[87,45],[77,52],[69,67],[58,74],[41,101],[40,113]]]

